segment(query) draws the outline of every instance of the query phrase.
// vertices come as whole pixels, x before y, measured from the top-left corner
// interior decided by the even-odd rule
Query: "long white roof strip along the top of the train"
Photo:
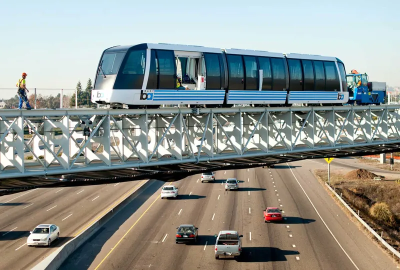
[[[124,46],[113,46],[106,49],[104,52],[116,52],[116,51],[127,51],[130,48],[135,49],[168,49],[168,50],[179,50],[179,51],[194,51],[194,52],[210,52],[210,53],[222,53],[224,51],[227,54],[240,54],[240,55],[252,55],[252,56],[266,56],[266,57],[287,57],[293,59],[309,59],[309,60],[326,60],[326,61],[339,61],[336,57],[322,56],[316,54],[301,54],[301,53],[280,53],[270,52],[265,50],[253,50],[253,49],[238,49],[238,48],[213,48],[204,47],[197,45],[183,45],[183,44],[171,44],[171,43],[140,43],[136,45],[124,45]]]

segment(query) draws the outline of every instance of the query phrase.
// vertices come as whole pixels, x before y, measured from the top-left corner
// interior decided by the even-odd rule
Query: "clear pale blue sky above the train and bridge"
[[[398,10],[399,0],[5,1],[0,88],[21,72],[28,89],[85,85],[103,49],[145,42],[335,56],[400,86]]]

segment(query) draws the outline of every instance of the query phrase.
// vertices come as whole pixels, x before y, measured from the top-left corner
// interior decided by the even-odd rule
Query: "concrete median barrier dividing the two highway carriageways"
[[[98,218],[86,229],[81,231],[78,235],[64,243],[62,246],[57,248],[54,252],[36,264],[31,270],[56,270],[64,262],[64,260],[72,254],[80,245],[82,245],[87,239],[89,239],[99,228],[101,228],[108,220],[110,220],[115,214],[117,214],[123,207],[129,202],[140,195],[147,187],[149,187],[156,180],[146,180],[141,183],[132,193],[127,195],[120,203],[111,208],[103,216]]]

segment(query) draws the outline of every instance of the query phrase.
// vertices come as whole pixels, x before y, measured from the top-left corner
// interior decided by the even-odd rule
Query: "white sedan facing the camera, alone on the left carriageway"
[[[58,240],[59,227],[54,224],[40,224],[37,225],[26,240],[27,246],[32,245],[47,245],[50,246],[51,242]]]

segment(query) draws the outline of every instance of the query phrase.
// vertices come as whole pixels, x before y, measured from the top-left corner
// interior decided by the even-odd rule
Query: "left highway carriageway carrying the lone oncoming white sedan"
[[[145,181],[60,188],[36,188],[0,199],[0,269],[30,269],[88,222]],[[40,223],[60,227],[51,247],[28,247],[29,231]]]

